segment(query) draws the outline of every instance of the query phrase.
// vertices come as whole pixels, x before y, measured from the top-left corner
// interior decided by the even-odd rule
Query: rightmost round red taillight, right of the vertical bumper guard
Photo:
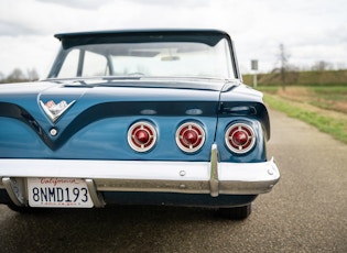
[[[237,154],[245,154],[256,144],[256,134],[251,127],[236,123],[227,129],[225,135],[228,148]]]

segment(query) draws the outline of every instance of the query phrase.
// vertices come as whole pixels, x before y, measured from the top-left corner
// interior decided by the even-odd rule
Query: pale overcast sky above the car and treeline
[[[44,78],[55,33],[147,28],[225,30],[243,73],[251,59],[260,72],[279,66],[281,43],[297,67],[347,68],[346,10],[346,0],[1,0],[0,73],[35,68]]]

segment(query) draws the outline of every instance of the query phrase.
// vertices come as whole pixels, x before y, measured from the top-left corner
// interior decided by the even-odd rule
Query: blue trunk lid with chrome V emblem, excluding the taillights
[[[22,91],[21,100],[17,99],[19,91],[12,97],[9,91],[4,100],[22,112],[15,116],[8,113],[7,117],[20,118],[31,130],[24,128],[22,138],[11,140],[11,148],[2,148],[6,153],[2,152],[2,155],[35,158],[207,160],[214,142],[219,90],[223,86],[223,81],[196,80],[78,80],[26,86],[28,90]],[[51,107],[56,107],[55,111],[50,110]],[[127,143],[127,131],[137,121],[151,122],[159,134],[158,144],[147,154],[132,151]],[[198,122],[206,131],[206,143],[194,156],[180,151],[175,143],[175,132],[186,121]],[[13,122],[7,124],[9,129],[14,127]],[[32,130],[42,142],[33,141]]]

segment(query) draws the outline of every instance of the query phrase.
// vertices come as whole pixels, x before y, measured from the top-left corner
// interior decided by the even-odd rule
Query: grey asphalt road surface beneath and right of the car
[[[18,215],[0,205],[0,252],[347,252],[347,145],[271,112],[282,178],[245,221],[195,208]]]

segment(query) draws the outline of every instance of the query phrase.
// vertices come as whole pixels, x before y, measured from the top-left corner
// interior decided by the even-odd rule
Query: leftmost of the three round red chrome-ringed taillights
[[[137,152],[151,150],[156,141],[155,128],[149,122],[137,122],[128,130],[128,143]]]

